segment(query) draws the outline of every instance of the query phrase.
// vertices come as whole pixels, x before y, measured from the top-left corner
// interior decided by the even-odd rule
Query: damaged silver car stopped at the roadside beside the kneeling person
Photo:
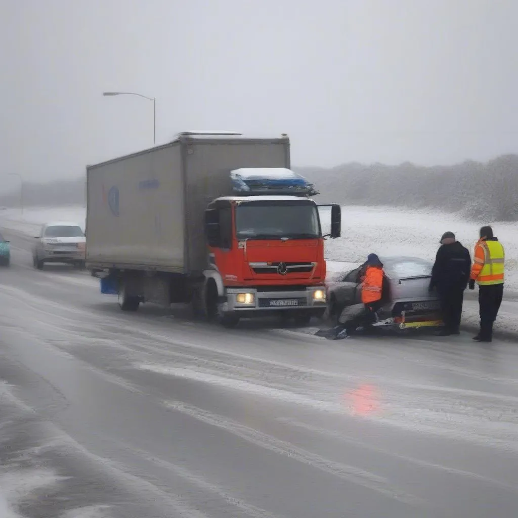
[[[442,326],[438,294],[428,291],[433,263],[418,257],[380,257],[386,279],[385,304],[373,326],[398,329]],[[326,282],[330,318],[343,308],[362,304],[362,266]]]

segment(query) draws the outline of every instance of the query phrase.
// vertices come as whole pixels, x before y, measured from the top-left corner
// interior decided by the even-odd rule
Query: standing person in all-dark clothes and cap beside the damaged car
[[[439,336],[458,335],[471,257],[468,249],[455,239],[453,232],[445,232],[440,243],[431,271],[429,291],[436,289],[439,294],[444,321]]]

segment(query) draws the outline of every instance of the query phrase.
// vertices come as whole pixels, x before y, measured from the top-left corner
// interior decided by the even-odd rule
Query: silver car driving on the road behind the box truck
[[[41,270],[45,263],[66,263],[84,268],[86,238],[77,223],[54,222],[41,227],[33,248],[33,264]]]

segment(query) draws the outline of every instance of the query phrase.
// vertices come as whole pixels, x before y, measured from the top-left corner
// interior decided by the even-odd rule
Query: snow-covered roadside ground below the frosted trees
[[[40,207],[0,211],[0,227],[34,234],[47,221],[85,223],[85,208]],[[491,222],[495,235],[506,249],[506,293],[518,292],[518,225]],[[326,241],[329,275],[347,271],[365,261],[371,252],[379,255],[409,255],[433,260],[444,232],[451,231],[472,253],[480,224],[455,214],[392,207],[342,207],[342,237]],[[326,222],[323,221],[325,231]],[[34,234],[36,235],[36,234]],[[465,301],[464,321],[478,325],[478,304]],[[515,302],[502,304],[497,327],[518,335],[518,311]]]

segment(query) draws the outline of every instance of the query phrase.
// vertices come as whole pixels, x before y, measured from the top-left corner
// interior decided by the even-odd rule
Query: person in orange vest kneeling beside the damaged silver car
[[[340,340],[349,337],[347,329],[356,329],[359,325],[370,324],[376,311],[383,305],[383,263],[376,254],[369,254],[363,265],[365,274],[362,277],[363,310],[351,316],[350,307],[343,309],[338,318],[339,324],[329,330],[328,340]]]

